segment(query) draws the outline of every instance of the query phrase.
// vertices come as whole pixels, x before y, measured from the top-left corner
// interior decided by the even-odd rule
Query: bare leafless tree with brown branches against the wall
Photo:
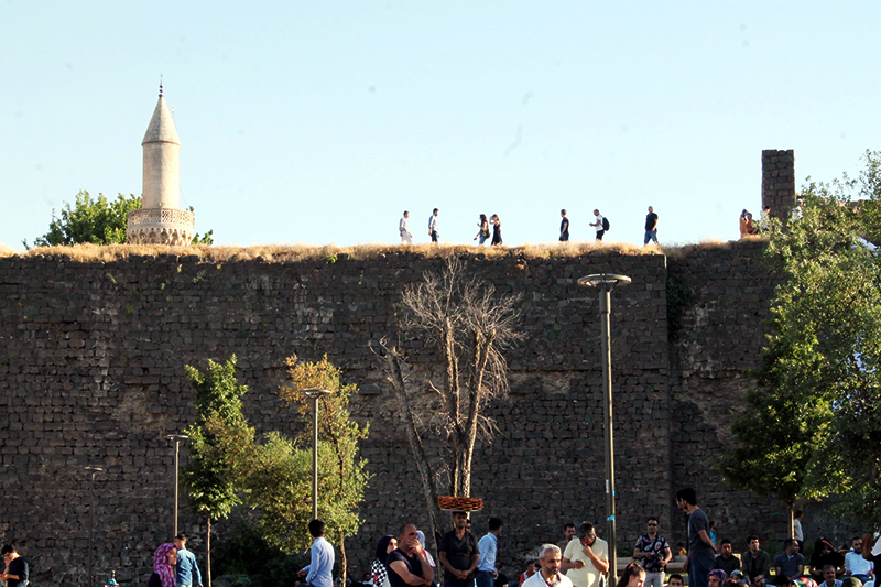
[[[435,540],[446,525],[437,504],[443,480],[448,494],[467,497],[475,443],[478,436],[491,441],[494,435],[494,422],[482,409],[491,398],[508,391],[502,350],[522,338],[515,309],[519,300],[496,295],[492,285],[467,275],[454,257],[444,260],[438,275],[425,273],[422,283],[403,291],[399,340],[422,339],[440,358],[435,366],[440,371],[439,387],[431,374],[425,379],[425,385],[440,400],[436,410],[418,400],[403,348],[383,339],[377,349],[402,410]],[[425,431],[445,441],[440,463],[427,457],[422,442]]]

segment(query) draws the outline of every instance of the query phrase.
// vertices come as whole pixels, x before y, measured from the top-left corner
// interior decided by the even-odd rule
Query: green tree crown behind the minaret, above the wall
[[[119,194],[116,199],[108,200],[104,194],[93,199],[89,193],[80,191],[74,205],[65,202],[61,216],[52,210],[48,232],[34,239],[35,247],[57,247],[70,244],[122,244],[126,242],[128,215],[141,208],[141,197]],[[194,211],[189,207],[189,211]],[[214,230],[203,236],[196,233],[193,244],[214,244]],[[22,241],[25,248],[28,240]]]

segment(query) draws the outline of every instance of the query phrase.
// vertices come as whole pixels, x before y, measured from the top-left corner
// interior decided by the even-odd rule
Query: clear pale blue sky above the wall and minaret
[[[141,193],[160,74],[184,206],[221,244],[738,237],[762,149],[797,184],[881,149],[881,2],[0,0],[0,242]]]

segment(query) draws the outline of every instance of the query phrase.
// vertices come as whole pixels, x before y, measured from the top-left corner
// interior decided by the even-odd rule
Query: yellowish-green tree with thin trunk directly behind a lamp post
[[[325,356],[317,362],[298,362],[296,356],[287,358],[287,373],[291,377],[290,387],[281,389],[281,398],[289,405],[295,406],[300,417],[304,423],[312,423],[312,402],[300,390],[304,389],[325,389],[331,391],[325,395],[318,407],[318,517],[327,525],[327,540],[339,547],[341,555],[340,567],[342,569],[342,583],[346,584],[346,573],[348,562],[346,557],[346,536],[358,532],[361,520],[357,509],[365,497],[365,489],[369,476],[365,470],[367,461],[358,458],[358,443],[367,438],[369,424],[363,426],[351,420],[348,405],[352,393],[357,393],[358,388],[354,384],[344,385],[340,382],[342,371],[334,367]],[[312,444],[312,426],[304,428],[298,441],[302,445]],[[278,438],[270,442],[268,446],[274,444],[274,449],[294,460],[308,455],[307,450],[294,453],[292,444],[283,445]],[[292,469],[294,468],[292,464]],[[300,465],[302,469],[302,464]],[[306,479],[311,478],[312,471]],[[303,478],[302,476],[300,477]],[[307,499],[301,499],[300,504],[308,503]],[[272,523],[278,524],[283,515],[276,512]],[[292,512],[293,513],[293,512]],[[312,511],[309,510],[305,520],[300,518],[301,529],[297,536],[305,537],[302,529],[308,522]],[[296,519],[296,517],[292,517]],[[293,520],[291,520],[293,522]],[[289,524],[290,528],[292,524]],[[274,534],[278,535],[278,534]],[[272,541],[270,541],[272,543]],[[289,541],[284,542],[285,545]],[[296,540],[293,544],[300,547]]]

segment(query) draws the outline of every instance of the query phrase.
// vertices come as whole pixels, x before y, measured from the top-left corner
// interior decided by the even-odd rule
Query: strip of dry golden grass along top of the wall
[[[2,249],[0,249],[2,250]],[[355,260],[377,259],[387,254],[420,254],[426,258],[448,257],[453,254],[483,254],[487,258],[508,256],[535,259],[583,257],[602,251],[619,254],[663,254],[664,250],[656,246],[639,247],[627,242],[570,241],[566,244],[526,243],[521,247],[477,247],[466,244],[356,244],[337,247],[328,244],[316,247],[309,244],[255,244],[251,247],[221,247],[196,244],[192,247],[165,247],[160,244],[75,244],[73,247],[35,247],[23,253],[11,251],[10,254],[21,257],[52,256],[63,257],[72,261],[118,261],[128,257],[160,256],[197,256],[205,261],[251,261],[260,259],[270,263],[297,261],[336,261],[339,256],[347,254]],[[0,256],[3,253],[0,252]]]

